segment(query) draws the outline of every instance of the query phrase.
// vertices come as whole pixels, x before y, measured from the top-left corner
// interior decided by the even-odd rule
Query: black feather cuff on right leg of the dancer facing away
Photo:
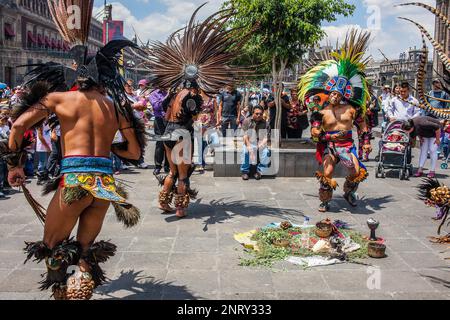
[[[92,280],[95,282],[95,287],[98,287],[106,282],[105,272],[98,265],[105,263],[110,257],[116,254],[117,246],[108,241],[99,241],[94,243],[82,259],[89,264],[91,268]]]

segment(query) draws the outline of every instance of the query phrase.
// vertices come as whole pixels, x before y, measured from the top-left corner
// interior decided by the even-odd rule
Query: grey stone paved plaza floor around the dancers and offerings
[[[151,153],[148,162],[151,161]],[[417,157],[416,157],[417,159]],[[448,245],[432,244],[437,222],[434,210],[416,200],[418,180],[400,181],[398,174],[375,179],[360,188],[360,206],[349,209],[342,189],[335,194],[332,211],[319,214],[318,185],[313,178],[277,178],[243,182],[239,178],[213,178],[212,172],[194,175],[199,199],[183,220],[157,209],[159,188],[152,170],[132,170],[118,178],[130,185],[131,202],[142,210],[139,225],[126,230],[110,210],[98,239],[118,245],[106,265],[111,281],[98,288],[95,299],[450,299]],[[448,172],[439,178],[450,183]],[[343,179],[338,179],[343,185]],[[40,198],[33,180],[30,188]],[[24,241],[40,240],[42,225],[21,193],[0,201],[0,299],[49,299],[38,281],[44,264],[23,264]],[[274,270],[239,266],[243,248],[233,234],[270,222],[301,224],[304,215],[315,223],[340,219],[368,234],[369,217],[381,223],[378,235],[386,239],[385,259],[364,265],[339,264],[302,270],[288,263]],[[379,270],[379,289],[369,289],[373,270]],[[378,271],[377,271],[378,272]]]

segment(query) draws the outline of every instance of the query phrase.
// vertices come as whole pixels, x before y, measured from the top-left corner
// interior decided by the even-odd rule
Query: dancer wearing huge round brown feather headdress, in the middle
[[[163,185],[159,207],[165,213],[172,212],[170,204],[174,199],[179,218],[186,216],[189,201],[197,194],[190,188],[193,165],[189,151],[192,150],[194,117],[203,105],[199,92],[213,96],[234,82],[236,70],[227,64],[236,58],[246,39],[240,30],[224,27],[231,17],[224,11],[196,23],[195,17],[201,7],[194,12],[185,29],[172,34],[164,44],[154,43],[149,50],[148,67],[154,75],[153,87],[169,93],[163,102],[168,124],[161,140],[169,159],[170,173],[159,179]],[[176,181],[178,186],[175,186]]]

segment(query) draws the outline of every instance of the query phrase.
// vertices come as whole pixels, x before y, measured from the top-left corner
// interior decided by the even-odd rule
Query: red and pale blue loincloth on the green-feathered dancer
[[[340,131],[328,131],[326,135],[331,136],[334,134],[339,134]],[[346,134],[339,139],[339,141],[325,141],[322,146],[318,146],[318,158],[323,159],[327,154],[335,157],[337,162],[341,162],[348,169],[354,169],[355,163],[353,157],[358,159],[358,154],[356,150],[355,143],[352,137],[352,131],[347,131]],[[366,166],[358,160],[360,168],[367,171]]]

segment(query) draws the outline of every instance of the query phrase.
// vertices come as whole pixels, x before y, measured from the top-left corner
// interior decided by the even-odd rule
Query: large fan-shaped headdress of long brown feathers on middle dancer
[[[169,36],[166,43],[153,42],[149,48],[147,66],[154,76],[154,87],[175,91],[198,86],[206,93],[217,93],[234,81],[238,69],[229,63],[237,57],[247,35],[238,29],[227,29],[230,10],[217,12],[205,21],[195,21],[201,5],[188,25]]]

